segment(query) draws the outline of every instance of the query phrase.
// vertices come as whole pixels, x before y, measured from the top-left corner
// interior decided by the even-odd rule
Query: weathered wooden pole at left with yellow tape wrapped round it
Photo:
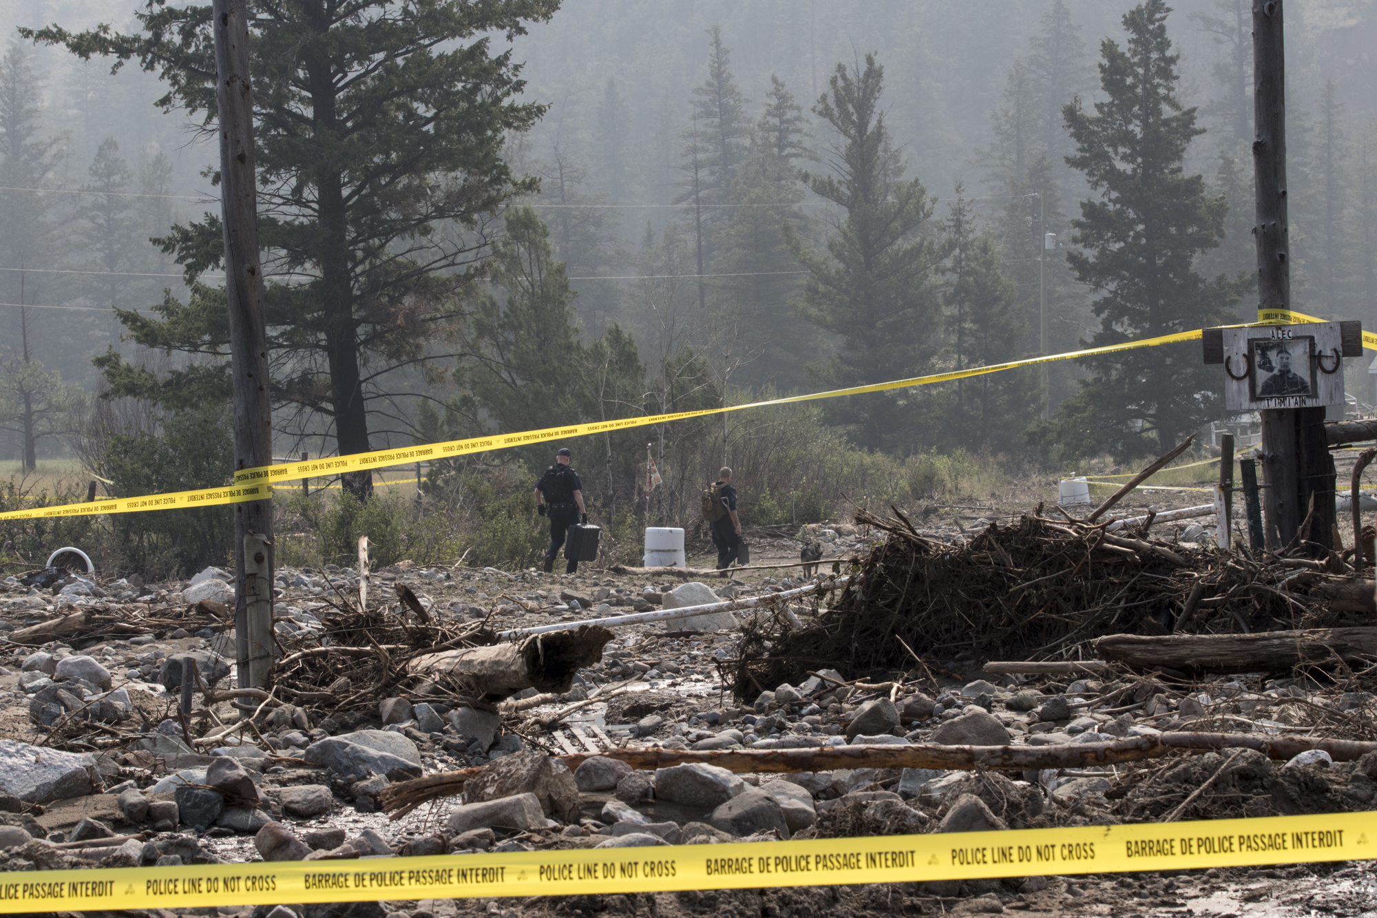
[[[215,30],[215,103],[220,120],[220,208],[224,222],[224,295],[230,320],[235,471],[273,465],[273,414],[269,402],[267,331],[257,245],[253,95],[249,83],[245,1],[213,0],[211,23]],[[235,669],[241,688],[262,688],[271,664],[271,498],[234,504]],[[252,551],[253,557],[245,558],[246,551]],[[245,568],[255,575],[253,584],[248,583]],[[251,586],[255,589],[251,590]],[[252,602],[251,591],[255,594]]]

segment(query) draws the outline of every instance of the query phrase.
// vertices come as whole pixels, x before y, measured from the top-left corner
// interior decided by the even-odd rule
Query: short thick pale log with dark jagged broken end
[[[574,673],[602,659],[613,633],[600,624],[570,631],[533,634],[525,641],[425,653],[406,670],[416,675],[450,675],[468,682],[475,695],[501,700],[523,689],[567,692]]]

